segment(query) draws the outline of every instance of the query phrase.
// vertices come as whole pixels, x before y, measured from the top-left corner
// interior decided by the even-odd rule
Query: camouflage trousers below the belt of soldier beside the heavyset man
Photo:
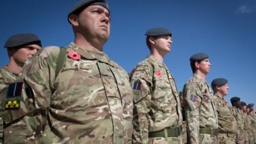
[[[182,136],[169,138],[148,138],[148,144],[182,144]]]

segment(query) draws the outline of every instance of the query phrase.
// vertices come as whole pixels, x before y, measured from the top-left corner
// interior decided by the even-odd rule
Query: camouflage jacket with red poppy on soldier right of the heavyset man
[[[182,124],[179,93],[164,63],[148,56],[134,68],[130,80],[134,101],[133,143],[147,143],[148,132]]]

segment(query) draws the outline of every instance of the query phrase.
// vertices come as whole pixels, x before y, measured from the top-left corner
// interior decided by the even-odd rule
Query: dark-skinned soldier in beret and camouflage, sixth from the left
[[[232,110],[236,117],[236,144],[244,144],[244,121],[243,110],[241,109],[241,102],[239,97],[232,97],[230,99],[232,104]]]

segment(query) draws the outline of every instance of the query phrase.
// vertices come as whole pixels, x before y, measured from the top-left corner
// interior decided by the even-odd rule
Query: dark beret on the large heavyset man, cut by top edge
[[[86,8],[87,6],[90,5],[100,5],[105,7],[106,9],[108,9],[108,3],[106,0],[81,0],[79,1],[79,3],[77,3],[75,6],[73,6],[72,10],[68,13],[68,17],[72,14],[72,13],[76,13],[79,12],[80,10],[83,10],[83,8]],[[68,20],[69,22],[69,20]]]

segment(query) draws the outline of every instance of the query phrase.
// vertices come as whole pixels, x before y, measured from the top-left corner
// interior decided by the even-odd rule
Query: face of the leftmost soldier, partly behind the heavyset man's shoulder
[[[41,47],[36,44],[30,44],[22,46],[16,49],[13,54],[13,60],[20,66],[23,66],[24,63],[31,58]]]

